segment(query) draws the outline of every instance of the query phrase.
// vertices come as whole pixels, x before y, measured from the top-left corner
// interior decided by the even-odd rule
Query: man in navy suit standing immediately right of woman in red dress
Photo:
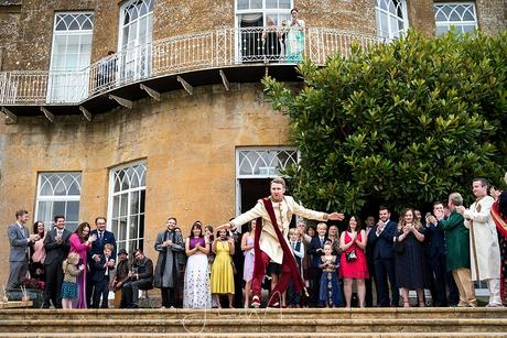
[[[392,238],[398,223],[390,220],[391,214],[386,207],[380,207],[379,221],[371,229],[368,242],[375,246],[375,284],[377,285],[377,306],[389,306],[389,291],[387,279],[391,286],[391,306],[399,306],[400,294],[396,285],[395,254],[392,252]]]

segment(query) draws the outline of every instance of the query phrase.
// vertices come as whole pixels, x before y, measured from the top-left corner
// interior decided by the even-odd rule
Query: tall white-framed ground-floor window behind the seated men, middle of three
[[[108,219],[117,237],[118,249],[128,252],[143,249],[145,162],[112,168],[109,175]]]

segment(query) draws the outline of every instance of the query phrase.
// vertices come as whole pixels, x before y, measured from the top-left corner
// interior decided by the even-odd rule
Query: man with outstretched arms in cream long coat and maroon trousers
[[[260,305],[260,287],[266,273],[266,266],[270,261],[281,264],[282,272],[277,286],[272,291],[268,306],[280,305],[280,295],[285,291],[290,280],[294,281],[296,292],[301,291],[304,286],[287,240],[293,214],[320,221],[344,219],[343,214],[325,214],[310,210],[295,203],[291,196],[284,196],[285,181],[283,178],[272,179],[270,192],[271,195],[259,199],[252,209],[219,227],[219,229],[234,229],[252,219],[257,219],[258,226],[256,228],[254,244],[255,263],[251,302],[254,307]]]

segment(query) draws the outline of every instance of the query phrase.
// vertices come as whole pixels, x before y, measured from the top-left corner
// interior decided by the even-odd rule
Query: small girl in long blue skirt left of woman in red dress
[[[324,244],[324,255],[321,257],[321,264],[319,264],[319,268],[322,269],[319,301],[321,306],[325,307],[342,305],[338,275],[336,273],[336,255],[333,255],[332,252],[333,246],[326,242]]]

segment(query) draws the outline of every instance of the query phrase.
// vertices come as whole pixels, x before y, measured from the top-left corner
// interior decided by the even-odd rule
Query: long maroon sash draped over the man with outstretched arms
[[[304,281],[301,277],[300,270],[298,268],[298,263],[295,262],[294,257],[292,255],[292,251],[287,244],[285,239],[283,238],[282,232],[280,231],[280,228],[278,227],[277,222],[277,217],[274,216],[274,209],[273,209],[273,204],[269,198],[262,198],[262,203],[265,204],[266,210],[268,211],[269,219],[271,220],[271,223],[273,225],[274,232],[277,233],[278,241],[280,242],[280,246],[282,247],[283,251],[283,261],[282,265],[289,266],[291,271],[291,281],[294,282],[294,287],[296,292],[300,292],[304,287]],[[260,239],[260,232],[262,230],[262,219],[259,217],[257,219],[256,223],[256,236],[255,236],[255,241],[254,241],[254,252],[255,252],[255,259],[254,259],[254,277],[257,279],[263,279],[266,271],[262,269],[262,264],[260,264],[261,261],[261,251],[260,251],[260,246],[259,246],[259,239]]]

